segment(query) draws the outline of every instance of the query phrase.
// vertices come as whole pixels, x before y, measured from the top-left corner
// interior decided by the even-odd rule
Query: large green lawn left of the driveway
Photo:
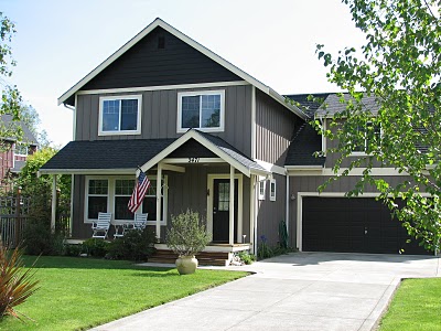
[[[34,258],[24,258],[32,265]],[[174,268],[74,257],[40,257],[36,269],[40,290],[17,307],[35,322],[8,317],[0,330],[87,329],[247,275],[196,270],[180,276]]]

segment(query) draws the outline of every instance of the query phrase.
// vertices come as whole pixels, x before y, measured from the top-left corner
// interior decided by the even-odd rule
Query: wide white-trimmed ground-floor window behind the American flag
[[[137,213],[148,213],[149,225],[157,224],[157,177],[148,177],[150,186]],[[135,175],[125,177],[87,177],[86,178],[86,206],[85,221],[98,218],[99,212],[112,213],[116,222],[131,221],[133,214],[128,209],[128,203],[135,188]],[[168,205],[168,177],[161,181],[161,225],[166,225]]]

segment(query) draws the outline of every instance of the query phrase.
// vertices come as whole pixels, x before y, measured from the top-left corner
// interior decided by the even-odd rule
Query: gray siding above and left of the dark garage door
[[[391,175],[391,177],[381,177],[388,183],[392,185],[404,181],[405,179],[409,179],[406,175]],[[316,193],[318,188],[323,184],[330,177],[326,175],[305,175],[305,177],[290,177],[290,193],[294,194],[295,200],[290,200],[289,206],[289,235],[291,239],[291,244],[293,247],[297,247],[297,213],[298,213],[298,193],[299,192],[308,192],[308,193]],[[354,189],[355,183],[357,182],[358,177],[345,177],[341,178],[337,181],[332,182],[323,193],[345,193],[352,189]],[[378,191],[375,188],[367,188],[365,190],[366,193],[377,193]]]

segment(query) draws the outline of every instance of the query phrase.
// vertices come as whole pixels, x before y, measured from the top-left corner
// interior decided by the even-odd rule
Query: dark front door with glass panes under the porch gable
[[[229,179],[213,181],[213,242],[228,243],[229,241]],[[238,180],[235,180],[234,199],[234,239],[237,239],[237,200]]]

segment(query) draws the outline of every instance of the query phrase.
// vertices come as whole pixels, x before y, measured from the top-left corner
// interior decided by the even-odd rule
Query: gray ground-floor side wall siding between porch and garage
[[[276,179],[276,201],[269,197],[269,181],[265,200],[257,204],[257,243],[261,243],[261,236],[267,237],[269,245],[276,245],[279,242],[279,222],[286,220],[286,177],[273,174]]]

